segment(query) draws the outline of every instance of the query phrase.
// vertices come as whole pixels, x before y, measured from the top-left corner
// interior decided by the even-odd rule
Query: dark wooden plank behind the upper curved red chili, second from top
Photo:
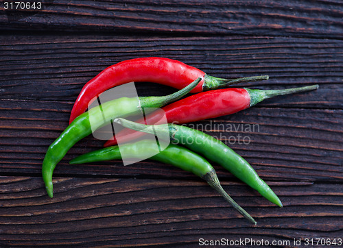
[[[265,89],[320,84],[316,92],[259,106],[342,109],[343,42],[281,37],[1,36],[3,99],[75,101],[82,86],[107,66],[137,57],[181,60],[224,78],[270,75],[239,84]],[[139,95],[166,95],[167,86],[137,84]],[[70,111],[71,105],[63,108]]]

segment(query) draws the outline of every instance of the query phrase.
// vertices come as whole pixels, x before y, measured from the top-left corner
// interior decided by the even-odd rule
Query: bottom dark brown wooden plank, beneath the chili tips
[[[0,177],[0,245],[198,245],[199,239],[289,240],[342,236],[340,184],[272,185],[272,206],[243,184],[224,188],[258,224],[242,219],[206,183],[173,179]],[[325,223],[323,225],[323,223]]]

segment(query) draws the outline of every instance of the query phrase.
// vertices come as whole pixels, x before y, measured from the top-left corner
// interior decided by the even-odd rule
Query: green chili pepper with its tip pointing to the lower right
[[[241,179],[241,181],[255,188],[263,197],[282,208],[279,197],[257,175],[252,166],[222,141],[213,138],[209,134],[175,124],[143,125],[122,118],[117,118],[114,122],[124,127],[150,134],[165,134],[168,132],[172,142],[185,145],[189,149],[202,154],[205,158],[220,164],[230,173]]]

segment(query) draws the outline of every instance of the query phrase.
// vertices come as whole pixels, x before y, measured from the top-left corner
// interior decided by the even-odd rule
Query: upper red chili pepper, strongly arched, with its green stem
[[[181,89],[191,84],[198,77],[201,77],[202,80],[191,92],[223,88],[238,82],[268,79],[268,76],[243,77],[239,79],[212,77],[193,66],[168,58],[152,57],[125,60],[109,66],[84,85],[78,99],[74,103],[73,110],[71,110],[69,123],[86,111],[88,103],[91,103],[95,97],[114,86],[129,82],[152,82]]]

